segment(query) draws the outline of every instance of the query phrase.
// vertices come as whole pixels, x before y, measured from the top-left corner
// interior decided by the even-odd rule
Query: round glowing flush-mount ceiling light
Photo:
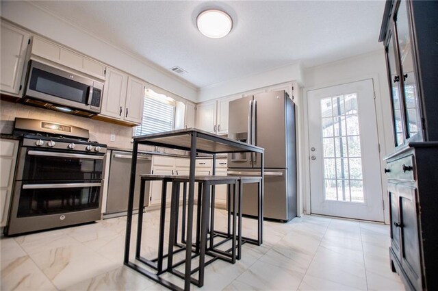
[[[227,13],[211,9],[198,15],[196,25],[198,25],[201,34],[208,38],[223,38],[233,28],[233,20]]]

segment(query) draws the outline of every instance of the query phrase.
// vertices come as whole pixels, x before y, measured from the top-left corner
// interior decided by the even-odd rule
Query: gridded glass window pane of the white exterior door
[[[364,201],[361,160],[361,138],[357,115],[357,94],[321,100],[324,158],[324,199]],[[328,118],[333,114],[333,118]]]

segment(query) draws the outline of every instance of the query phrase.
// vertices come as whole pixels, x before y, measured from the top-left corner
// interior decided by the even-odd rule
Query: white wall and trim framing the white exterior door
[[[376,114],[378,138],[381,144],[381,168],[385,168],[386,163],[383,161],[385,155],[394,151],[394,138],[392,134],[391,121],[391,103],[389,97],[389,88],[387,83],[387,73],[385,66],[385,54],[382,49],[373,53],[358,55],[354,58],[348,58],[322,66],[307,68],[304,71],[305,89],[303,94],[305,121],[307,121],[307,91],[345,84],[350,81],[359,81],[363,79],[373,79],[374,90],[376,92]],[[309,137],[307,122],[305,122],[304,135],[299,138],[305,142],[305,155],[301,158],[306,165],[306,210],[309,210],[310,192],[309,192]],[[383,172],[383,171],[382,171]],[[387,199],[387,179],[382,173],[383,199],[385,202],[385,222],[389,222],[389,206]]]

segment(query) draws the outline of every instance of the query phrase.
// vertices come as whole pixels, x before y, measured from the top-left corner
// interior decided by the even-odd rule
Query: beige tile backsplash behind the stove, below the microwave
[[[132,127],[96,121],[90,118],[75,116],[39,107],[33,107],[10,101],[0,101],[0,133],[12,134],[16,117],[34,118],[44,121],[55,121],[68,125],[75,125],[90,131],[90,140],[96,140],[108,147],[118,147],[121,149],[132,149]],[[110,135],[114,134],[116,140],[110,141]]]

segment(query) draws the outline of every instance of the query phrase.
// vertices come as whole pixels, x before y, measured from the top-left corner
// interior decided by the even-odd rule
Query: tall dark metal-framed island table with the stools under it
[[[153,279],[157,283],[162,284],[168,288],[172,289],[172,284],[164,281],[158,275],[149,273],[148,271],[140,268],[133,262],[129,262],[129,246],[131,242],[131,223],[133,215],[133,197],[134,197],[134,187],[136,181],[136,166],[137,166],[137,154],[138,145],[148,144],[157,147],[167,147],[172,149],[180,149],[184,151],[190,151],[190,171],[189,171],[189,186],[188,186],[188,225],[187,225],[187,246],[192,245],[192,217],[193,217],[193,205],[194,205],[194,186],[195,186],[195,166],[196,166],[196,153],[207,153],[213,155],[213,175],[215,174],[216,166],[216,154],[217,153],[244,153],[244,152],[255,152],[261,154],[261,193],[263,193],[263,152],[264,149],[261,147],[256,147],[252,144],[246,144],[244,142],[239,142],[237,140],[231,140],[229,138],[224,138],[218,136],[217,134],[211,134],[207,131],[202,131],[200,129],[189,128],[189,129],[178,129],[173,131],[165,131],[159,134],[148,134],[144,136],[137,136],[133,138],[133,149],[132,149],[132,164],[131,164],[131,180],[129,184],[129,200],[128,200],[128,212],[127,212],[127,229],[125,238],[125,258],[124,264],[137,270],[146,277]],[[263,197],[263,195],[262,195]],[[263,219],[263,207],[260,210],[261,219]],[[262,236],[262,229],[259,229],[259,235]],[[185,279],[184,279],[184,290],[190,290],[191,281],[191,259],[192,250],[187,247],[185,250]],[[173,286],[175,288],[175,286]],[[178,289],[178,288],[175,288]]]

